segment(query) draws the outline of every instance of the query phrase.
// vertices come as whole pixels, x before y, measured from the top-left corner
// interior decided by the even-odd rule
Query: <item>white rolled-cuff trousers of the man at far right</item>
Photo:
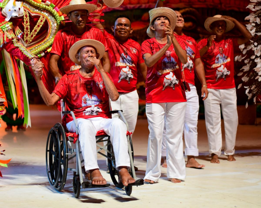
[[[235,153],[236,131],[238,128],[238,112],[236,110],[236,89],[208,89],[209,95],[204,100],[207,138],[209,140],[209,153],[221,155],[221,114],[225,126],[225,155]]]

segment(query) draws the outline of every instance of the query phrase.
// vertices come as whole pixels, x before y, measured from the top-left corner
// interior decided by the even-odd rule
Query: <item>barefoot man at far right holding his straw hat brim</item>
[[[229,38],[226,32],[236,26],[242,38]],[[205,121],[209,152],[212,163],[220,163],[221,155],[221,115],[224,118],[226,146],[224,153],[228,161],[235,161],[235,141],[238,127],[238,112],[236,110],[236,88],[234,81],[234,46],[248,42],[252,36],[244,25],[232,17],[215,15],[205,21],[205,28],[212,32],[209,38],[198,43],[201,59],[204,63],[208,99],[204,100]]]

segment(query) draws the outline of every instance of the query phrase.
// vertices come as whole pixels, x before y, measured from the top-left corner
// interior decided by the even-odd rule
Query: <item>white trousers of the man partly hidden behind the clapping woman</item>
[[[199,111],[199,98],[196,87],[189,83],[190,92],[186,92],[187,107],[185,111],[184,121],[184,140],[185,140],[185,155],[198,156],[198,111]],[[164,122],[166,117],[164,118]],[[164,123],[163,137],[162,137],[162,150],[161,155],[166,157],[166,122]]]

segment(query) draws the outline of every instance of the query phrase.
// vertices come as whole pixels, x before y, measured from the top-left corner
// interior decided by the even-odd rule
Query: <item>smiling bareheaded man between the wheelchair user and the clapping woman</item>
[[[110,75],[120,94],[120,98],[111,102],[112,110],[123,110],[123,115],[129,124],[129,131],[134,132],[139,111],[139,96],[136,89],[138,70],[146,80],[147,67],[141,56],[140,44],[129,38],[132,34],[129,17],[116,17],[111,27],[113,36],[107,33],[102,24],[96,27],[101,29],[108,43],[108,53],[111,63]],[[120,118],[113,114],[112,118]]]

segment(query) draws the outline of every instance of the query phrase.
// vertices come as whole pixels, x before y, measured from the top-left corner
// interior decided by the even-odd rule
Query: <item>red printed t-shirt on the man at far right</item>
[[[207,38],[199,41],[198,49],[205,47]],[[235,87],[234,81],[234,46],[237,38],[225,38],[217,42],[201,57],[205,68],[207,87],[211,89],[229,89]]]

